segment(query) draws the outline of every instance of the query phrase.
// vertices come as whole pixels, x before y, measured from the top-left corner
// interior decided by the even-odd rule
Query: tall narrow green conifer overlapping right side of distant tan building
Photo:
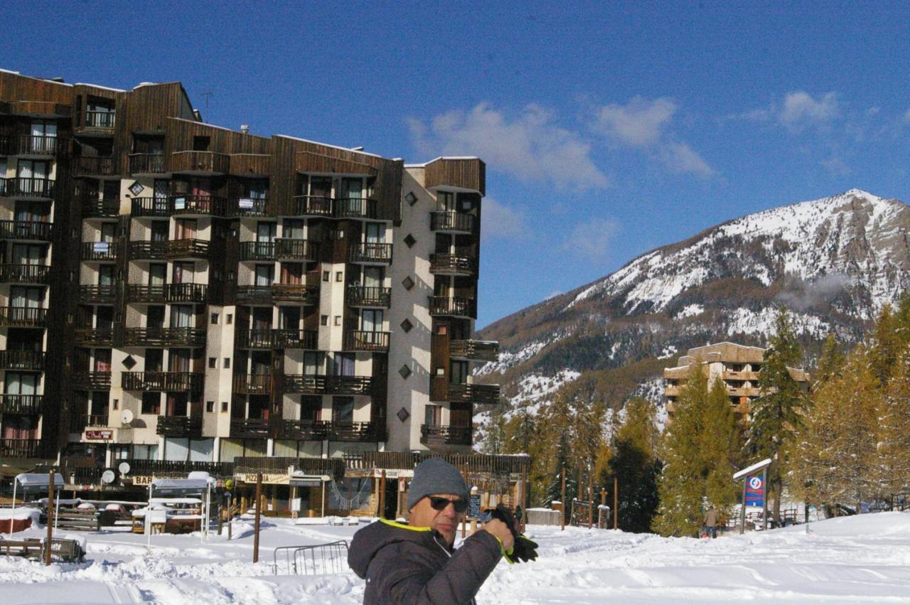
[[[780,524],[784,476],[788,472],[787,448],[802,425],[806,397],[788,369],[800,365],[802,353],[785,308],[779,309],[774,328],[759,372],[760,394],[750,410],[743,454],[749,462],[772,459],[768,487],[774,498],[774,520]]]

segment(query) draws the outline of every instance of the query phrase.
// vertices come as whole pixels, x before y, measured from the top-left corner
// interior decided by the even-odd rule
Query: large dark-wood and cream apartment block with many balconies
[[[470,453],[484,183],[0,71],[0,458]]]

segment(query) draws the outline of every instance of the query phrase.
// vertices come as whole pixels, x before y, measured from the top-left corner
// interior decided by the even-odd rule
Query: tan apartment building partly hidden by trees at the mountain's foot
[[[678,366],[663,370],[667,411],[672,414],[680,390],[694,365],[706,369],[709,384],[715,378],[723,380],[734,414],[738,421],[744,422],[750,405],[759,397],[758,373],[762,369],[764,351],[761,347],[746,347],[732,342],[690,348],[679,358]],[[809,377],[804,370],[788,369],[794,380],[808,388]]]

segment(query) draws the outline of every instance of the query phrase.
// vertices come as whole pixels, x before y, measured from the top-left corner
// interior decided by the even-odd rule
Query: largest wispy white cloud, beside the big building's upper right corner
[[[488,103],[468,112],[435,116],[429,129],[408,120],[414,145],[427,156],[480,156],[494,170],[521,180],[550,180],[576,190],[607,187],[607,176],[591,160],[591,145],[581,134],[557,126],[541,106],[526,106],[510,118]]]

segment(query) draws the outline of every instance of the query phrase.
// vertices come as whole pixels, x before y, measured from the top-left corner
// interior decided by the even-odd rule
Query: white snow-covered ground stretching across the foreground
[[[263,524],[252,564],[252,525],[234,539],[86,533],[82,564],[0,556],[0,602],[15,603],[359,603],[353,572],[274,575],[279,545],[349,539],[357,527]],[[31,529],[16,537],[31,533]],[[910,513],[829,519],[716,540],[664,539],[598,529],[532,526],[540,558],[504,561],[480,603],[910,602]]]

